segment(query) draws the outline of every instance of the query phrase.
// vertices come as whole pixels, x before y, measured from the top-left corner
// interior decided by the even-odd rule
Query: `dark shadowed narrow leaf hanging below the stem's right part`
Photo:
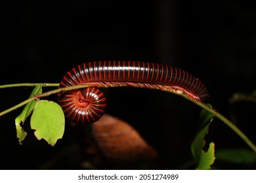
[[[201,122],[202,126],[201,126],[200,130],[198,131],[198,133],[196,134],[194,141],[191,144],[192,156],[194,157],[194,159],[196,159],[196,162],[198,163],[198,166],[200,165],[200,167],[202,167],[201,166],[202,161],[205,160],[205,152],[203,151],[203,147],[205,146],[204,138],[205,138],[205,135],[207,135],[207,133],[208,133],[209,125],[211,124],[212,120],[213,120],[213,114],[211,114],[207,110],[202,110],[202,113],[200,115],[200,122]],[[212,146],[213,146],[213,144],[212,144]],[[211,148],[211,146],[210,146],[210,148]],[[209,149],[209,150],[211,150],[211,149]],[[211,151],[209,152],[209,154],[210,153],[211,153]],[[206,157],[208,157],[208,156],[206,156]],[[214,148],[213,148],[213,158],[214,158]],[[209,161],[207,161],[207,162],[210,163],[211,161],[212,161],[212,158],[210,158]],[[207,162],[205,162],[205,163],[207,163]],[[210,167],[211,164],[209,164],[208,166],[205,165],[204,167]]]

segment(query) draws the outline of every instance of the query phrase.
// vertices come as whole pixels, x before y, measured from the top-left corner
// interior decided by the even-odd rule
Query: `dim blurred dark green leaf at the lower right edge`
[[[245,148],[227,148],[218,150],[216,158],[229,163],[256,163],[256,154]]]

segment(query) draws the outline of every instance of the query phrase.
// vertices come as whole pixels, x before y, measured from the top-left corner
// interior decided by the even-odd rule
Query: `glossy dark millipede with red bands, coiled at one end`
[[[59,88],[75,85],[89,88],[60,92],[58,103],[67,118],[81,123],[96,122],[104,114],[106,99],[98,88],[131,86],[166,92],[179,90],[196,101],[209,96],[203,83],[190,73],[170,65],[141,61],[83,63],[66,73]]]

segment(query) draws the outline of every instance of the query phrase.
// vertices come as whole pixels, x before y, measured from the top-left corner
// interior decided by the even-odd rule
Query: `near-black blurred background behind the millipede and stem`
[[[256,142],[255,104],[228,103],[234,92],[255,90],[253,1],[1,1],[0,7],[0,84],[60,82],[66,71],[87,61],[167,63],[198,76],[213,107]],[[26,99],[31,90],[2,89],[1,111]],[[56,96],[47,99],[56,101]],[[135,127],[166,169],[182,169],[192,159],[199,107],[171,93],[134,88],[108,90],[107,102],[108,114]],[[66,124],[64,138],[51,147],[35,139],[27,121],[28,137],[18,145],[14,118],[19,113],[0,118],[0,169],[82,169],[89,161],[81,126]],[[247,148],[219,120],[213,121],[207,139],[215,141],[216,150]]]

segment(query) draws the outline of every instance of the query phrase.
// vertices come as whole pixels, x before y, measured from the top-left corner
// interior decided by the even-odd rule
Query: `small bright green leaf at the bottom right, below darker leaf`
[[[207,152],[202,152],[200,156],[200,160],[198,163],[198,167],[196,168],[197,170],[208,170],[211,169],[211,165],[214,163],[215,157],[214,157],[214,143],[211,142],[209,144],[209,148]]]

